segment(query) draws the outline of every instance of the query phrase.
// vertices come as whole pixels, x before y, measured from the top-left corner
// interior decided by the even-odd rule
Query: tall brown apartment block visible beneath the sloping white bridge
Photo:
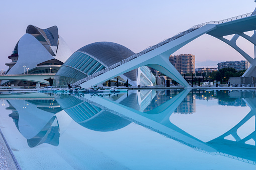
[[[170,55],[169,61],[181,74],[195,73],[195,56],[192,54]]]

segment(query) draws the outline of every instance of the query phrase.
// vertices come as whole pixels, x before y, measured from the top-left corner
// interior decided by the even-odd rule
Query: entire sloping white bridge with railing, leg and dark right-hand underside
[[[252,24],[256,22],[256,16],[253,16],[251,14],[245,15],[246,16],[245,18],[242,18],[242,16],[235,17],[234,20],[232,18],[229,20],[229,22],[227,22],[228,20],[226,20],[226,23],[223,23],[224,21],[212,22],[214,24],[210,22],[205,26],[199,26],[196,29],[193,29],[193,28],[189,29],[186,32],[181,33],[182,35],[179,34],[178,36],[167,39],[166,42],[164,41],[165,43],[162,43],[162,44],[159,43],[153,46],[152,48],[148,48],[145,51],[142,51],[134,56],[127,58],[126,60],[118,62],[104,70],[101,70],[98,73],[94,73],[89,77],[86,77],[80,81],[77,81],[76,83],[73,83],[72,86],[80,85],[81,87],[88,88],[91,85],[100,84],[104,81],[107,81],[108,79],[116,77],[120,74],[124,74],[130,70],[136,69],[143,65],[147,65],[147,66],[151,65],[152,68],[174,79],[176,82],[180,83],[181,85],[185,87],[189,87],[189,84],[184,80],[184,78],[179,74],[179,72],[173,66],[166,66],[166,63],[169,63],[168,61],[169,54],[173,54],[178,49],[182,48],[186,44],[190,43],[194,39],[204,34],[209,34],[213,37],[216,37],[226,42],[231,47],[233,47],[250,62],[252,66],[250,67],[249,70],[252,69],[252,71],[255,72],[256,60],[254,61],[254,59],[250,58],[246,53],[244,53],[241,49],[239,49],[234,44],[234,42],[238,38],[237,37],[238,34],[236,34],[237,32],[243,33],[246,31],[252,31],[256,29],[256,26]],[[222,24],[218,24],[218,23],[222,23]],[[223,36],[232,35],[232,34],[236,34],[236,35],[231,42],[228,42],[226,41],[226,39],[223,38]],[[243,34],[240,34],[240,35],[244,36]],[[253,37],[251,38],[246,37],[246,38],[252,42]],[[251,74],[248,74],[248,72],[244,74],[244,76],[251,75]],[[253,73],[253,75],[254,74],[256,76],[256,73]]]

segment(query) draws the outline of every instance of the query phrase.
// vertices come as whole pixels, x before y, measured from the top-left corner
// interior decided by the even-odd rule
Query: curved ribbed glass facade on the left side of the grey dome
[[[83,52],[75,52],[59,69],[54,77],[53,86],[75,83],[106,67]]]

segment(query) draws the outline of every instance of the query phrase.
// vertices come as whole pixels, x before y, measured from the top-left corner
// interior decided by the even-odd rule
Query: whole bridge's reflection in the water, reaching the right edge
[[[252,96],[254,96],[255,94],[253,93]],[[255,98],[251,99],[252,96],[246,96],[246,98],[244,99],[246,103],[250,106],[251,112],[249,112],[248,115],[240,123],[238,123],[238,125],[236,125],[237,127],[240,127],[242,124],[244,124],[245,121],[247,121],[250,117],[255,115],[256,102]],[[182,98],[182,95],[180,97]],[[79,98],[81,99],[82,97]],[[182,130],[178,126],[174,125],[169,120],[165,121],[169,118],[168,112],[161,112],[162,114],[165,114],[165,116],[158,116],[161,113],[156,115],[148,115],[147,113],[142,113],[140,111],[134,110],[132,108],[126,107],[114,101],[110,101],[106,98],[98,96],[91,98],[90,95],[85,95],[83,100],[94,105],[97,105],[98,107],[108,110],[114,114],[117,114],[125,119],[133,121],[136,124],[144,126],[166,137],[177,140],[182,144],[186,144],[192,148],[195,148],[196,150],[211,153],[214,155],[224,155],[247,163],[256,164],[256,146],[244,143],[245,140],[248,140],[250,138],[255,139],[255,131],[249,134],[247,137],[245,137],[244,140],[238,139],[238,142],[224,139],[226,135],[230,134],[230,131],[216,139],[213,139],[208,142],[203,142],[200,139],[188,134],[186,131]],[[176,98],[176,100],[180,99]],[[166,110],[169,109],[172,108],[166,107]],[[175,109],[176,108],[173,108],[173,110]],[[234,128],[236,128],[236,126]]]

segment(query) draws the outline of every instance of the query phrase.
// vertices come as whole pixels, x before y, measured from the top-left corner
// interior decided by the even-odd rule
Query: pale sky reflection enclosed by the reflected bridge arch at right
[[[196,112],[172,114],[170,121],[204,142],[234,127],[250,111],[249,107],[221,106],[218,100],[196,100]]]

